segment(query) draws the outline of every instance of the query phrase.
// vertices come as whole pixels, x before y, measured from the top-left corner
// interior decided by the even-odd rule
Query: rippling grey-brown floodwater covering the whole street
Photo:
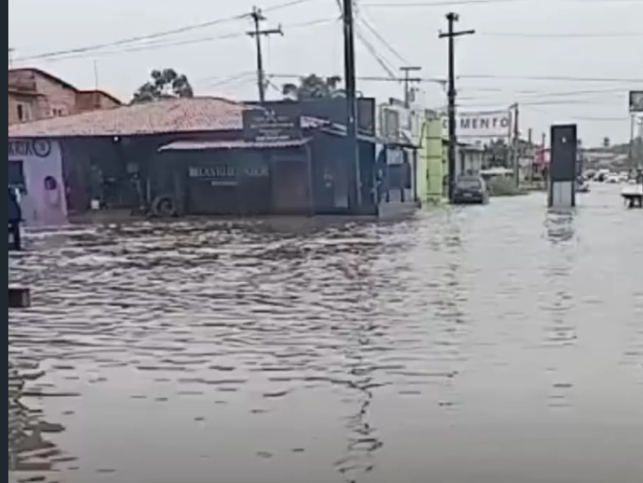
[[[640,483],[643,212],[544,202],[34,234],[10,477]]]

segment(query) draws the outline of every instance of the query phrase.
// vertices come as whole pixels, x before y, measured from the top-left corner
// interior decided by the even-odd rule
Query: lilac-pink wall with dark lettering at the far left
[[[9,161],[21,161],[26,193],[21,194],[26,226],[67,223],[67,206],[58,141],[9,139]]]

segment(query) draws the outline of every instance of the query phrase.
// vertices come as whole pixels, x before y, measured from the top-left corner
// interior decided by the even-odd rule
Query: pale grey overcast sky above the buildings
[[[358,75],[387,78],[384,63],[394,75],[411,64],[422,66],[419,75],[426,79],[444,78],[447,43],[437,36],[452,10],[460,15],[459,28],[477,31],[457,41],[460,109],[519,102],[520,129],[532,128],[535,139],[550,124],[569,121],[579,125],[586,145],[604,136],[629,139],[627,91],[643,90],[643,0],[477,1],[356,0],[357,32],[365,41],[356,39]],[[189,77],[196,94],[256,99],[247,18],[89,48],[229,19],[255,4],[266,11],[264,27],[284,30],[283,37],[264,41],[268,74],[343,74],[337,0],[9,0],[13,65],[45,69],[81,88],[96,84],[96,66],[99,87],[124,100],[151,69],[173,67]],[[67,58],[29,59],[83,48]],[[271,81],[269,96],[277,99],[276,88],[288,79]],[[427,107],[444,106],[439,84],[421,87]],[[395,81],[359,80],[358,89],[382,101],[402,96]]]

